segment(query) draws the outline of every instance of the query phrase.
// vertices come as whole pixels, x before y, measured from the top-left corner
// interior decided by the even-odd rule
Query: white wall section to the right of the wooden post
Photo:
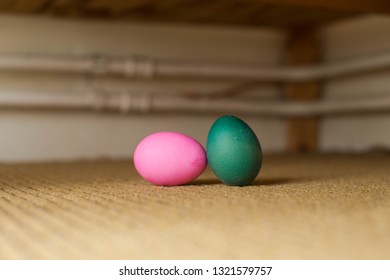
[[[325,62],[390,51],[390,17],[367,16],[332,24],[322,30]],[[325,84],[325,99],[390,94],[390,69],[343,77]],[[337,116],[321,124],[323,151],[367,151],[390,148],[390,114]]]

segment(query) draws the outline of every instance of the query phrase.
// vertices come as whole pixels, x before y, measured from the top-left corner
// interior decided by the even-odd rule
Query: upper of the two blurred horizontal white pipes
[[[302,82],[390,68],[390,53],[313,66],[210,64],[145,57],[0,54],[0,70]]]

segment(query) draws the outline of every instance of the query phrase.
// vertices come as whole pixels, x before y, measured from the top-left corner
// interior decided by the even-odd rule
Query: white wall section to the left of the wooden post
[[[53,18],[0,16],[0,52],[150,55],[157,58],[215,62],[279,62],[284,43],[280,32],[259,29],[107,23]],[[89,90],[89,84],[111,87],[113,79],[88,76],[0,72],[0,91]],[[117,86],[117,83],[115,84]],[[129,80],[120,87],[165,87],[208,91],[230,83]],[[276,87],[256,94],[276,98]],[[140,139],[158,130],[187,133],[203,144],[213,115],[112,115],[95,112],[0,110],[0,162],[130,157]],[[282,120],[243,116],[265,151],[285,144]]]

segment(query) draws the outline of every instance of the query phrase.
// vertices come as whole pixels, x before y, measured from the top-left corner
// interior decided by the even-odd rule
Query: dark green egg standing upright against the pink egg
[[[259,174],[262,164],[259,139],[237,117],[223,116],[214,122],[206,150],[211,169],[226,185],[249,185]]]

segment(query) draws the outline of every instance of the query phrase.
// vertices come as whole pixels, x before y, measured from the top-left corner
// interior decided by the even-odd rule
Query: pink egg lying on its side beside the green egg
[[[175,186],[189,183],[202,174],[207,157],[195,139],[177,132],[157,132],[138,144],[134,164],[145,180]]]

